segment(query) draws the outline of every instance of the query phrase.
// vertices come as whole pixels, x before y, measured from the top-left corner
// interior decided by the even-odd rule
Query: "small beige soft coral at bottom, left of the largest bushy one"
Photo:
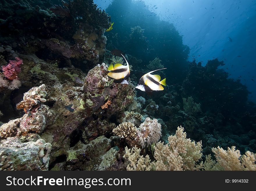
[[[141,149],[133,147],[128,149],[125,147],[124,158],[128,160],[127,170],[150,170],[151,163],[148,155],[145,157],[140,155]]]

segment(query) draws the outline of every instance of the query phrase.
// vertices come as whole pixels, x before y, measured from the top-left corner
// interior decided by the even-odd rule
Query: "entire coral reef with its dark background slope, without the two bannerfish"
[[[186,61],[173,24],[138,3],[113,0],[108,33],[93,0],[0,3],[0,170],[255,170],[246,86],[223,61]],[[116,11],[127,5],[132,14]],[[118,48],[129,84],[107,76]],[[164,91],[134,89],[164,66]]]

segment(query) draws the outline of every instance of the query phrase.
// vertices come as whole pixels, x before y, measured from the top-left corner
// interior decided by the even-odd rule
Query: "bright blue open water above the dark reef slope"
[[[94,2],[98,7],[106,9],[112,1],[95,0]],[[142,0],[136,3],[139,5],[136,7],[137,10],[127,7],[127,10],[116,11],[133,12],[146,8],[155,13],[154,17],[173,23],[182,35],[183,44],[190,48],[187,60],[192,61],[195,58],[196,62],[202,61],[202,66],[213,58],[223,60],[225,65],[219,68],[228,72],[230,78],[240,79],[241,83],[252,92],[248,99],[256,102],[255,0]],[[109,15],[112,22],[119,19]],[[150,20],[152,17],[147,19]],[[137,25],[143,25],[143,22],[148,22],[147,19],[144,21],[141,19]],[[131,22],[129,20],[124,24],[129,25]],[[133,25],[137,26],[136,23]],[[157,26],[152,27],[157,28]],[[161,31],[161,28],[158,29]]]

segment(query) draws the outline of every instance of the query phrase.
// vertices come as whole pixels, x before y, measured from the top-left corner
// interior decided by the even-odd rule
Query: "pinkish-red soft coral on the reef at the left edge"
[[[2,66],[3,74],[9,80],[17,79],[18,74],[21,71],[20,65],[23,64],[23,61],[19,57],[16,57],[15,59],[16,60],[9,60],[7,66]]]

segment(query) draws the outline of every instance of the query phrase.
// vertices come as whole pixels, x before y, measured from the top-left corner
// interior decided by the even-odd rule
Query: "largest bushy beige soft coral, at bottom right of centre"
[[[187,139],[181,126],[176,135],[168,137],[168,144],[158,142],[154,149],[156,170],[196,170],[195,164],[202,157],[202,142]]]

